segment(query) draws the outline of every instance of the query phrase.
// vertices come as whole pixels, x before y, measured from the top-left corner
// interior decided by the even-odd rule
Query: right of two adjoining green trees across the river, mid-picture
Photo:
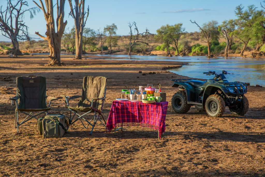
[[[182,27],[182,23],[169,26],[169,35],[172,38],[175,48],[178,53],[179,53],[179,49],[178,49],[179,38],[183,34],[184,31],[185,31],[185,28]]]

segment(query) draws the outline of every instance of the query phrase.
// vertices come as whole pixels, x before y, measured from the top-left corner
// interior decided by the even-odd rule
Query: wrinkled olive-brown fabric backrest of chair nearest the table
[[[92,98],[102,98],[106,96],[107,78],[101,76],[86,76],[83,79],[82,94],[79,100],[79,108],[90,107]],[[101,110],[102,100],[94,100],[94,108]]]

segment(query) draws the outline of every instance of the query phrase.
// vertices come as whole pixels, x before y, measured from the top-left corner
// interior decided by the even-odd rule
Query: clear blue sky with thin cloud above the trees
[[[17,0],[14,0],[17,1]],[[255,5],[260,9],[262,0],[85,0],[85,9],[89,5],[89,17],[86,28],[94,30],[104,29],[106,25],[114,23],[117,25],[117,35],[128,35],[130,28],[129,22],[136,22],[139,32],[142,33],[147,28],[150,33],[155,34],[156,30],[162,25],[174,25],[183,23],[187,32],[199,31],[196,24],[189,20],[196,21],[199,25],[216,20],[222,23],[224,20],[235,19],[235,8],[242,4],[245,8],[249,5]],[[36,0],[39,3],[39,0]],[[43,0],[44,3],[44,0]],[[54,4],[56,1],[54,1]],[[32,1],[28,1],[29,7],[36,7]],[[265,5],[265,3],[263,3]],[[0,0],[0,6],[6,6],[6,0]],[[55,6],[56,8],[56,6]],[[65,1],[65,16],[67,28],[74,26],[74,20],[69,16],[70,7],[68,0]],[[30,37],[38,37],[34,34],[36,31],[45,36],[46,21],[43,12],[38,12],[33,19],[29,14],[25,14],[25,24],[29,27]],[[38,39],[34,39],[38,40]],[[11,41],[0,33],[0,41]]]

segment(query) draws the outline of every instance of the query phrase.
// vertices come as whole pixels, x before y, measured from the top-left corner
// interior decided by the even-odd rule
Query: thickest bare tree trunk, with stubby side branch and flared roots
[[[56,21],[54,21],[54,5],[52,0],[44,0],[46,4],[46,9],[43,5],[42,0],[39,0],[41,6],[39,6],[35,1],[33,1],[44,14],[44,18],[46,20],[46,28],[47,31],[45,35],[47,37],[42,36],[39,32],[35,32],[39,37],[48,41],[50,48],[50,55],[48,66],[61,65],[61,39],[64,33],[65,26],[67,21],[64,22],[64,4],[65,0],[57,0],[56,3]],[[56,26],[55,26],[56,24]],[[55,32],[55,28],[57,27],[57,32]]]

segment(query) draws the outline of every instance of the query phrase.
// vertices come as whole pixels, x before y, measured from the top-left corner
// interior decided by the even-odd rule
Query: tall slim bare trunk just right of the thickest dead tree
[[[75,5],[73,7],[72,0],[68,0],[70,5],[69,15],[74,19],[74,25],[76,30],[76,58],[82,59],[82,49],[83,49],[83,29],[86,24],[87,17],[89,15],[89,7],[87,7],[87,12],[85,11],[85,0],[74,0]],[[85,19],[86,16],[86,19]],[[85,19],[85,21],[84,21]]]

